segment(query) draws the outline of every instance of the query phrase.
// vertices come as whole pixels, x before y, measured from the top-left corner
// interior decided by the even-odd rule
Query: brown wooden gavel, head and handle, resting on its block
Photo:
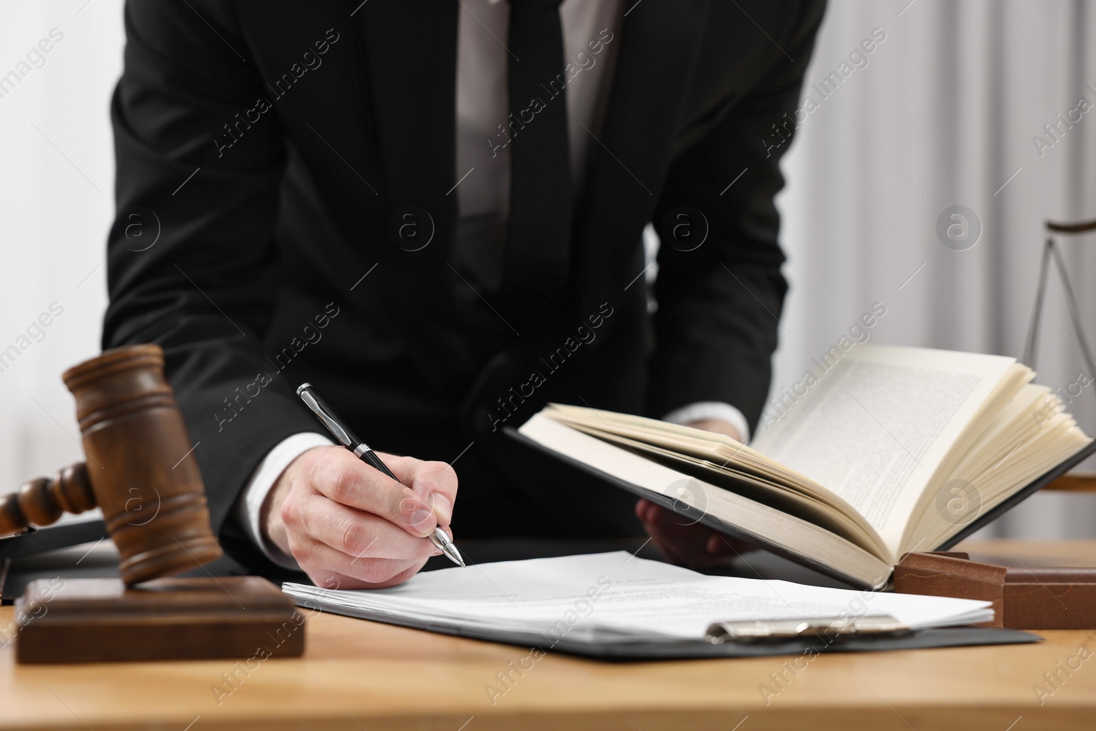
[[[126,584],[218,558],[202,475],[160,346],[105,351],[62,378],[76,398],[88,460],[0,498],[0,536],[98,505]]]

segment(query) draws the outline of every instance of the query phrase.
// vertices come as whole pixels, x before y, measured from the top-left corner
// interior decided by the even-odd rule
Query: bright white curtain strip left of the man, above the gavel
[[[82,459],[60,374],[99,352],[122,48],[121,0],[0,0],[0,351],[19,351],[0,359],[3,492]]]

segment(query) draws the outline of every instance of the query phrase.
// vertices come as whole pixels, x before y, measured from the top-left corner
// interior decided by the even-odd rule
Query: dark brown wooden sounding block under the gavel
[[[21,663],[297,656],[305,617],[259,576],[38,579],[15,601]]]

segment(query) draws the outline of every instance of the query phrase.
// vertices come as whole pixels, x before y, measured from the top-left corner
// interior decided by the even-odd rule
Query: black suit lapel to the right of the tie
[[[620,301],[639,272],[638,242],[672,162],[708,0],[642,0],[630,7],[575,215],[572,275],[579,317],[606,300]]]

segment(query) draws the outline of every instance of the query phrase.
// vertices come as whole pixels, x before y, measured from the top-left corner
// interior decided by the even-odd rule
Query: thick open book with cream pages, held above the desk
[[[1096,450],[1014,358],[860,345],[751,446],[550,404],[518,432],[609,481],[855,585],[939,550]]]

